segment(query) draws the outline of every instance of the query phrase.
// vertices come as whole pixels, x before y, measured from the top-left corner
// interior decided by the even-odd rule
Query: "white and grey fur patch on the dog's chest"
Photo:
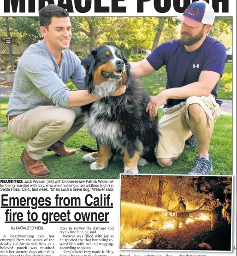
[[[122,136],[119,123],[103,118],[104,115],[111,116],[111,108],[98,100],[91,106],[89,113],[85,114],[85,127],[100,144],[118,146],[118,137]]]

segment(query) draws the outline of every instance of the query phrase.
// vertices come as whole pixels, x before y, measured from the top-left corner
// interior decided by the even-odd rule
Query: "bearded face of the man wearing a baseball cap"
[[[196,44],[204,35],[205,26],[191,27],[182,23],[180,41],[186,46]]]

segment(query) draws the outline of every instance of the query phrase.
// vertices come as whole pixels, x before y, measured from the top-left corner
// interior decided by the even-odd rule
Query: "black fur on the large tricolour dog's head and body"
[[[139,151],[142,158],[147,159],[149,162],[155,160],[154,147],[158,143],[158,128],[157,128],[157,117],[151,118],[149,112],[146,112],[146,108],[150,101],[149,96],[145,93],[143,87],[137,81],[137,79],[130,73],[130,64],[126,57],[118,49],[115,49],[118,56],[112,56],[110,54],[107,58],[103,58],[107,45],[93,50],[88,57],[83,59],[82,65],[86,69],[85,87],[89,90],[90,94],[95,93],[95,81],[94,75],[95,70],[101,65],[107,65],[107,63],[114,57],[118,57],[124,61],[125,72],[123,79],[120,82],[126,85],[126,92],[120,96],[108,96],[104,97],[100,102],[101,108],[109,109],[108,112],[101,112],[94,117],[94,126],[91,125],[89,132],[93,137],[96,138],[97,144],[108,144],[112,148],[113,155],[120,154],[121,149],[126,149],[129,157],[132,158],[136,151]],[[108,75],[107,75],[108,74]],[[111,73],[104,74],[113,78],[114,75]],[[109,78],[108,78],[109,79]],[[119,86],[119,82],[117,82]],[[85,123],[89,122],[91,118],[91,112],[93,111],[94,103],[82,106],[83,112],[85,112]],[[98,125],[101,126],[101,131],[106,127],[105,124],[116,123],[118,124],[118,134],[114,136],[108,136],[103,134],[103,140],[101,141],[98,132],[95,135],[93,129],[99,131]],[[116,131],[115,131],[116,133]],[[113,137],[113,139],[111,139]],[[114,141],[116,140],[116,141]],[[117,147],[118,146],[118,147]],[[142,150],[142,151],[141,151]],[[123,152],[123,150],[121,151]]]

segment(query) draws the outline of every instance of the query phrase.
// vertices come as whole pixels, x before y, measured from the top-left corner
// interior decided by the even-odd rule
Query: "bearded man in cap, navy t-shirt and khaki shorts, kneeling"
[[[140,77],[166,65],[166,90],[148,104],[150,116],[157,115],[164,104],[159,122],[160,140],[155,155],[160,166],[171,166],[184,150],[185,140],[193,134],[197,141],[197,156],[191,175],[212,172],[208,154],[213,126],[220,116],[216,100],[217,81],[223,74],[226,50],[217,40],[208,37],[215,14],[205,1],[190,4],[180,17],[180,40],[158,46],[147,59],[131,63],[131,72]]]

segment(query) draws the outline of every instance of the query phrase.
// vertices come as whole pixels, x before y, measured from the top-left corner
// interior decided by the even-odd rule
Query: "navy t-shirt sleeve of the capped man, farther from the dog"
[[[213,71],[223,75],[226,60],[226,49],[221,43],[215,44],[207,54],[206,61],[202,67],[203,70]]]

